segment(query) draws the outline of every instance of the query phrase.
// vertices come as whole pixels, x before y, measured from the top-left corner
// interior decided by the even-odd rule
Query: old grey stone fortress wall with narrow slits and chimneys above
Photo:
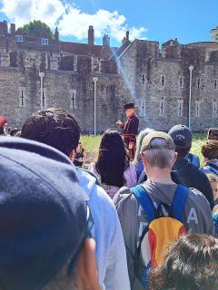
[[[82,131],[93,133],[95,95],[98,132],[117,128],[125,102],[135,103],[140,129],[167,131],[188,125],[190,91],[193,131],[218,126],[217,42],[175,39],[160,50],[158,42],[130,42],[127,32],[116,48],[108,35],[94,45],[93,26],[85,44],[61,42],[57,30],[54,39],[37,39],[11,24],[9,33],[0,23],[0,115],[11,127],[21,128],[37,110],[61,107],[74,113]]]

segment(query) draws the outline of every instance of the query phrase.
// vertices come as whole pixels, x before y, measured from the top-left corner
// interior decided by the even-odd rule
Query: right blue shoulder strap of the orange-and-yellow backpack
[[[172,203],[172,211],[173,217],[182,221],[183,219],[183,210],[186,200],[189,195],[189,189],[184,187],[183,185],[178,185],[178,188],[175,191],[173,203]]]

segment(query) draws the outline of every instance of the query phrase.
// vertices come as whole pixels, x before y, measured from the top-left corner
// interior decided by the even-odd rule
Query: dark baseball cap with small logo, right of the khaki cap
[[[168,134],[178,148],[189,148],[192,146],[192,131],[185,125],[175,125]]]

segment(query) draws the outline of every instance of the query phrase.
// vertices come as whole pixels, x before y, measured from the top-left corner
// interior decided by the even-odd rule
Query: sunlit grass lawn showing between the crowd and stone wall
[[[101,136],[94,135],[83,135],[81,137],[84,148],[87,151],[94,151],[96,154],[98,152],[98,147],[101,141]],[[206,134],[194,134],[193,135],[193,147],[191,152],[198,155],[201,160],[201,165],[203,165],[203,159],[201,154],[201,146],[203,142],[206,140]]]

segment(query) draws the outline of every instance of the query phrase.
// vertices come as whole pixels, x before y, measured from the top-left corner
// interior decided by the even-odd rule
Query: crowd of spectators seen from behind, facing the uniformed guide
[[[130,108],[131,109],[131,108]],[[96,160],[74,116],[0,116],[0,290],[217,290],[218,129],[105,131]]]

